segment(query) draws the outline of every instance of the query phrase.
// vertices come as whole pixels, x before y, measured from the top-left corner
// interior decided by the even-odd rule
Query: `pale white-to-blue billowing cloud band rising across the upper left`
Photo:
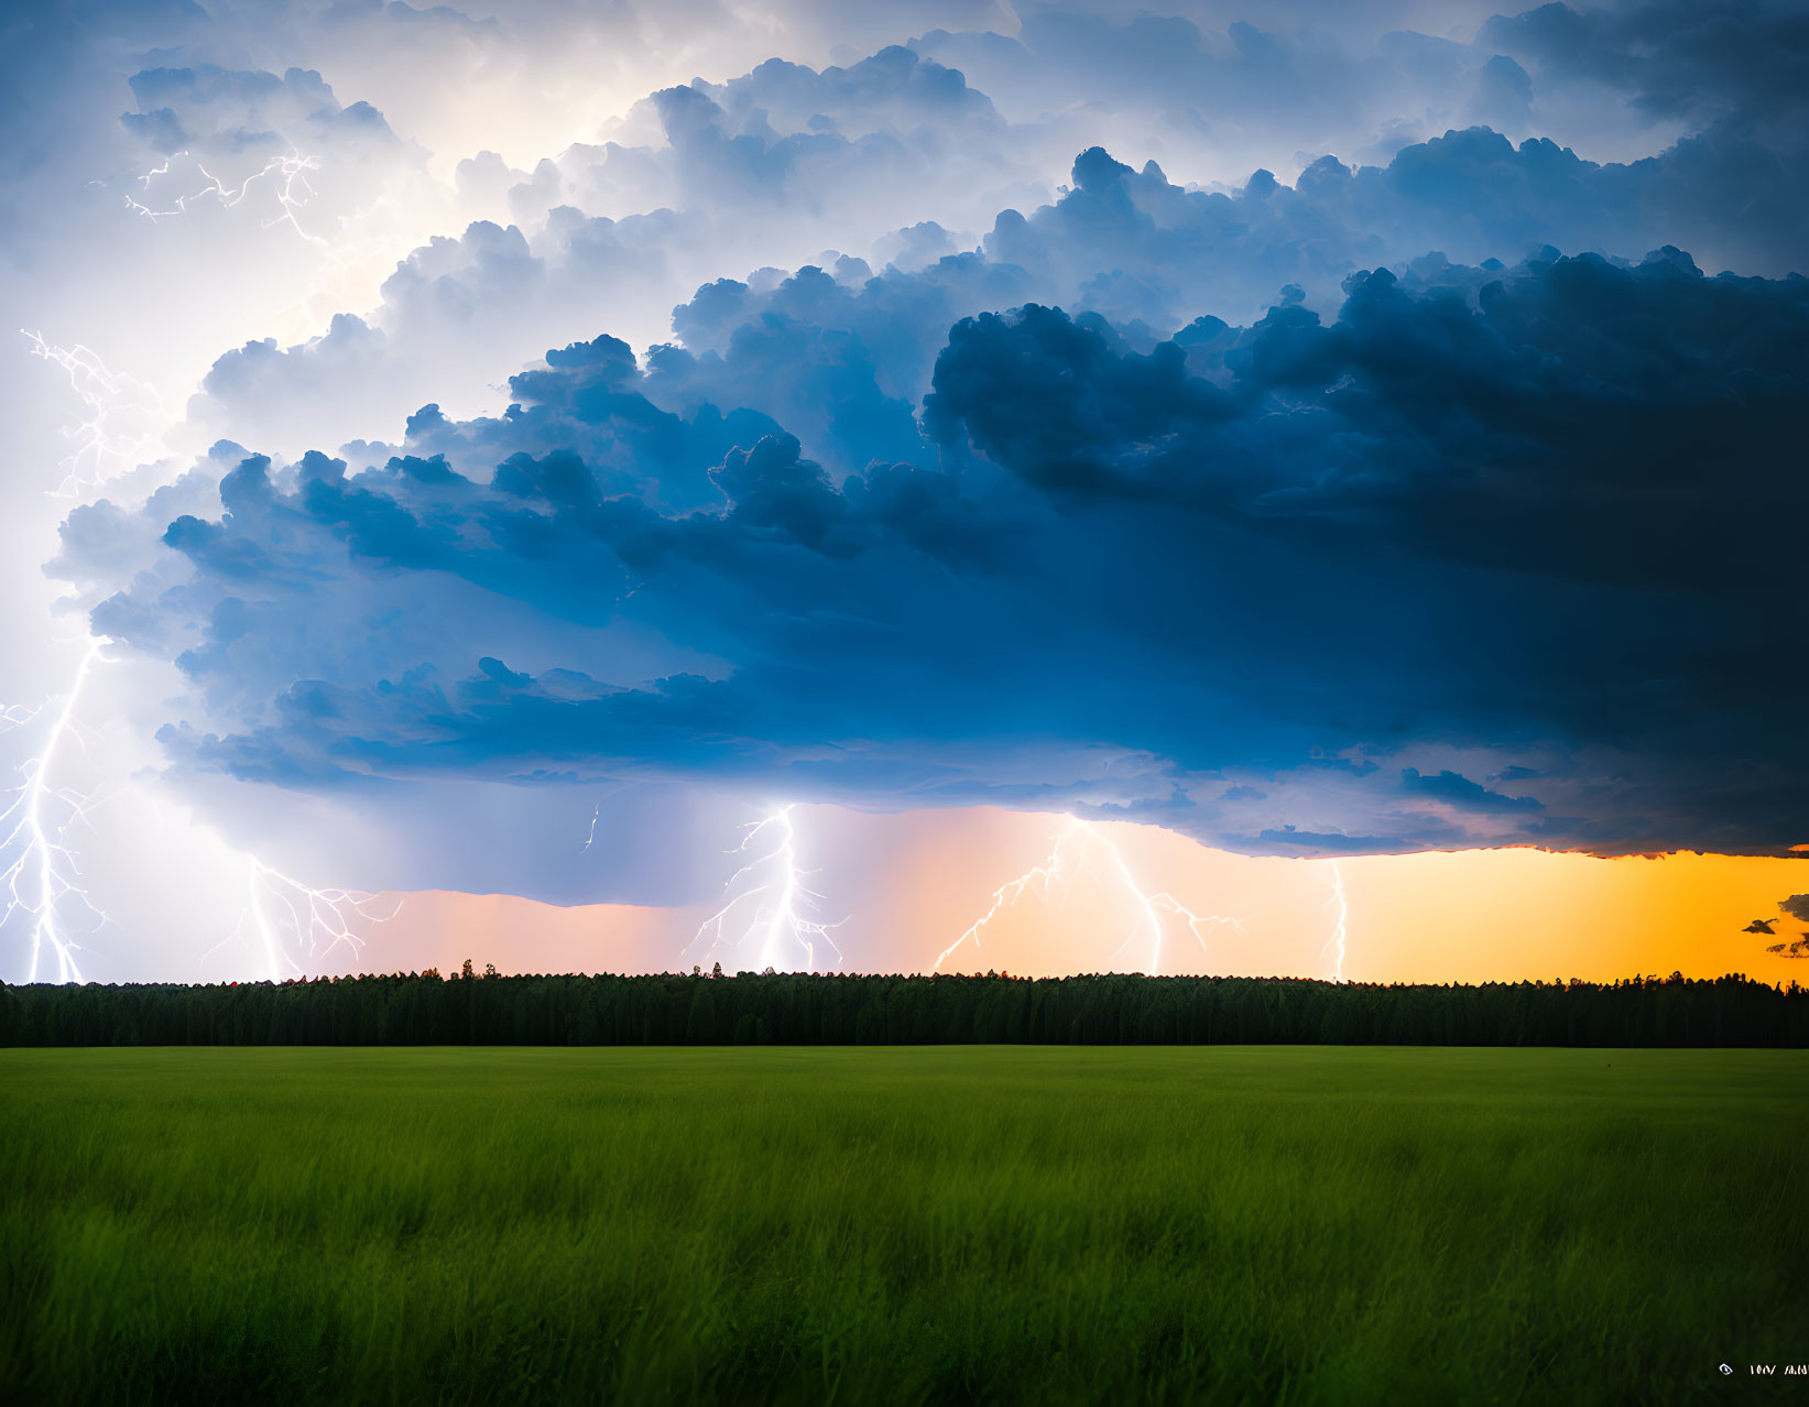
[[[298,454],[387,438],[429,400],[472,414],[499,369],[548,347],[597,331],[666,340],[671,309],[725,268],[859,255],[923,215],[973,228],[1009,203],[1040,204],[1042,152],[1056,150],[904,49],[847,71],[774,61],[724,87],[669,89],[630,112],[622,130],[635,128],[642,145],[573,146],[532,174],[496,152],[461,163],[459,190],[501,197],[519,222],[421,244],[374,307],[309,342],[260,338],[219,358],[190,407],[190,443],[232,436]],[[841,268],[867,273],[852,259]]]

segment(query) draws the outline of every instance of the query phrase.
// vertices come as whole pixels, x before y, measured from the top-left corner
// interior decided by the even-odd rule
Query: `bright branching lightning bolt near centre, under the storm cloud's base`
[[[841,966],[841,948],[830,930],[845,921],[823,922],[812,917],[823,895],[803,883],[791,812],[791,807],[780,807],[765,819],[743,826],[747,834],[729,854],[749,855],[749,861],[729,875],[722,908],[698,924],[684,957],[693,957],[707,939],[702,957],[709,960],[718,951],[754,951],[760,968],[816,971],[816,949],[821,942],[836,953],[836,966]]]

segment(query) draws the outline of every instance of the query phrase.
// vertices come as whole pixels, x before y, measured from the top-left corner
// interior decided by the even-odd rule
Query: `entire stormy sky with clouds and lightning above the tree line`
[[[5,980],[1800,975],[1809,7],[0,25]]]

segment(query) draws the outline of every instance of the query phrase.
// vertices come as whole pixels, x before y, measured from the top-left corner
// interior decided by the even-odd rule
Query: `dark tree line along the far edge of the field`
[[[0,1045],[1809,1045],[1747,977],[1378,986],[1246,977],[438,973],[0,986]]]

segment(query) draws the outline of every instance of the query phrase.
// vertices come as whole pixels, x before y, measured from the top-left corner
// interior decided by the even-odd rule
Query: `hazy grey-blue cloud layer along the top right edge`
[[[1418,33],[1431,16],[1404,7],[1174,11],[1026,4],[1015,36],[932,31],[914,47],[962,69],[1017,119],[1084,94],[1123,141],[1145,114],[1165,159],[1189,148],[1266,148],[1266,165],[1328,150],[1386,159],[1476,123],[1596,159],[1719,127],[1805,145],[1809,42],[1787,0],[1550,4],[1492,18],[1445,5],[1438,34]]]

